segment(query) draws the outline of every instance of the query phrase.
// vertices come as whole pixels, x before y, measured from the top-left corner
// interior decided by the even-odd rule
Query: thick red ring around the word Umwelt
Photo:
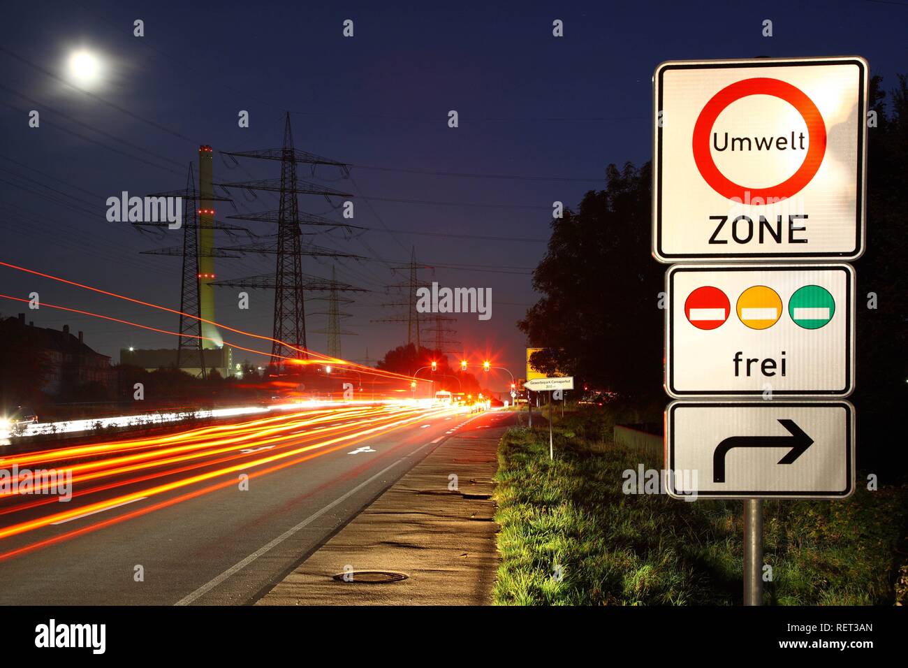
[[[792,174],[781,184],[775,184],[768,188],[748,188],[744,185],[735,184],[734,181],[726,178],[725,174],[719,171],[716,162],[713,160],[713,155],[709,151],[709,134],[713,130],[713,125],[716,124],[716,118],[719,117],[719,114],[722,113],[726,106],[748,95],[772,95],[785,100],[785,102],[798,110],[807,125],[810,145],[807,147],[807,155],[804,156],[804,162],[798,167],[795,174]],[[766,202],[770,197],[779,199],[791,197],[814,178],[823,163],[823,156],[826,153],[826,125],[823,122],[823,116],[820,115],[820,110],[814,105],[814,101],[807,97],[801,89],[778,79],[755,77],[725,86],[706,103],[694,125],[693,144],[696,168],[700,170],[700,174],[706,180],[706,183],[716,193],[727,199],[736,199],[741,202],[755,198],[761,198]],[[749,193],[749,197],[747,193]]]

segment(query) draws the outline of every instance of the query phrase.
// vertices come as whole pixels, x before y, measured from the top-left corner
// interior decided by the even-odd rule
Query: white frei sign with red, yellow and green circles
[[[712,301],[703,302],[704,311],[715,314],[697,320],[692,298],[706,287]],[[666,294],[671,396],[771,391],[844,397],[854,391],[850,265],[676,264],[666,272]],[[719,304],[718,294],[729,305]]]

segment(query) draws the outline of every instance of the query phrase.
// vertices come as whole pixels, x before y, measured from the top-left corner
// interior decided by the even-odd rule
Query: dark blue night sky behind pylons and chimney
[[[908,72],[908,4],[899,2],[372,5],[5,7],[0,259],[178,306],[179,260],[138,251],[179,244],[182,233],[145,238],[129,224],[107,223],[105,199],[123,190],[145,194],[182,187],[200,143],[216,150],[276,147],[282,112],[291,110],[298,148],[356,165],[353,183],[326,183],[360,195],[353,222],[374,228],[359,240],[332,234],[316,242],[393,263],[405,262],[415,245],[424,263],[457,265],[422,277],[450,286],[488,286],[494,300],[487,322],[459,317],[457,338],[474,359],[491,354],[522,375],[524,340],[515,322],[535,301],[529,270],[545,252],[551,203],[577,204],[584,192],[600,187],[609,163],[650,158],[651,76],[659,62],[856,54],[868,59],[873,74],[884,76],[886,87],[896,73]],[[137,18],[145,24],[142,38],[133,37]],[[341,36],[347,18],[354,21],[353,38]],[[565,24],[560,39],[551,35],[555,18]],[[772,38],[761,35],[764,19],[774,22]],[[108,70],[96,95],[120,110],[46,74],[63,75],[65,59],[77,47],[103,55]],[[27,125],[31,109],[41,112],[39,129]],[[241,109],[250,112],[248,129],[237,126]],[[450,109],[459,112],[457,129],[447,126]],[[279,175],[276,163],[242,165],[230,170],[215,155],[215,180]],[[267,210],[276,201],[260,194],[246,202],[241,195],[237,206]],[[303,210],[329,208],[321,198],[301,197]],[[229,205],[219,207],[219,216],[230,213]],[[260,234],[271,232],[265,224],[252,225]],[[387,228],[405,232],[389,234]],[[270,256],[248,255],[220,261],[217,271],[221,277],[263,274],[273,271],[272,262]],[[344,261],[337,269],[341,280],[373,290],[406,280],[374,260]],[[603,299],[620,287],[620,277],[605,269]],[[331,265],[310,261],[304,271],[329,275]],[[173,316],[7,269],[0,268],[0,286],[4,294],[37,290],[48,303],[176,326]],[[219,293],[217,320],[271,334],[271,295],[253,293],[252,310],[239,311],[235,293]],[[343,356],[360,358],[368,346],[372,357],[380,357],[400,344],[404,324],[370,324],[392,314],[394,309],[378,305],[386,301],[394,301],[393,295],[369,294],[347,307],[353,315],[345,327],[360,335],[344,337]],[[0,313],[23,310],[24,304],[2,302]],[[311,304],[310,310],[322,311],[324,304]],[[174,344],[163,334],[49,309],[26,317],[43,326],[82,329],[86,343],[114,361],[121,345]],[[324,321],[312,315],[309,327],[319,329]],[[310,347],[324,350],[324,334],[310,334]]]

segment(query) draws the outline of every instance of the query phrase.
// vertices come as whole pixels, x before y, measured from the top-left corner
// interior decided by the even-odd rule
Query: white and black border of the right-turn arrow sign
[[[827,493],[823,494],[821,492],[803,492],[798,490],[790,490],[788,492],[741,492],[740,490],[734,490],[727,493],[716,493],[716,492],[700,492],[697,490],[696,496],[698,499],[847,499],[849,496],[854,494],[854,489],[857,485],[857,461],[855,455],[855,427],[854,423],[856,421],[856,412],[854,410],[854,404],[844,399],[834,399],[834,400],[823,400],[818,399],[811,401],[809,399],[791,399],[791,400],[782,400],[782,401],[754,401],[753,399],[726,399],[719,401],[706,401],[706,400],[680,400],[673,401],[672,403],[666,406],[665,413],[665,430],[666,434],[664,436],[665,443],[665,462],[666,467],[666,494],[671,496],[673,499],[687,499],[691,498],[691,494],[676,494],[674,488],[672,487],[672,475],[671,471],[674,470],[675,462],[675,424],[674,424],[674,413],[679,407],[714,407],[714,406],[732,406],[735,408],[751,408],[751,407],[766,407],[766,408],[778,408],[778,407],[805,407],[805,406],[816,406],[816,407],[842,407],[845,409],[845,456],[848,458],[846,462],[846,471],[848,477],[848,489],[844,493]]]

